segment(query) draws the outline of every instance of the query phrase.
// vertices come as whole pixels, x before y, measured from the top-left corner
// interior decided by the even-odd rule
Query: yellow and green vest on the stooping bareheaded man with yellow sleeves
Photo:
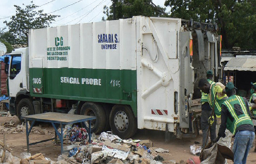
[[[212,88],[210,90],[210,94],[211,94],[211,99],[208,96],[208,103],[210,104],[210,106],[213,108],[213,102],[214,102],[214,97],[215,97],[215,88],[214,86],[216,85],[216,83],[212,84]],[[227,97],[227,95],[225,95],[224,97]],[[216,98],[215,101],[215,105],[214,105],[214,113],[216,115],[216,117],[220,118],[220,114],[221,114],[221,105],[222,103],[224,103],[224,101],[226,101],[227,99],[218,99]]]

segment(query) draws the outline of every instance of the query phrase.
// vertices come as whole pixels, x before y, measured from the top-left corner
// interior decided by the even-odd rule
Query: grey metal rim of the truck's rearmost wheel
[[[129,125],[129,120],[128,116],[125,114],[123,111],[118,111],[115,114],[115,127],[117,128],[118,131],[124,132],[128,128]]]

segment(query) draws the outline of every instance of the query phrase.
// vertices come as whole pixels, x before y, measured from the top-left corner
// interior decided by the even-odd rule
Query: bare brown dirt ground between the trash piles
[[[0,117],[0,124],[12,120],[16,124],[21,124],[17,117]],[[54,129],[50,124],[42,125],[43,128],[51,131],[51,135],[42,135],[42,134],[30,134],[29,141],[36,142],[48,138],[54,137]],[[179,162],[180,160],[187,160],[192,154],[190,154],[190,146],[194,144],[195,141],[198,141],[201,145],[202,136],[201,133],[197,138],[184,138],[184,139],[173,139],[169,143],[165,143],[165,133],[162,131],[151,131],[151,130],[138,130],[134,139],[150,139],[154,143],[154,147],[159,147],[162,149],[168,149],[170,153],[162,153],[161,155],[165,161],[163,163],[169,163],[170,160],[175,160]],[[3,141],[3,135],[0,134],[0,140]],[[8,146],[12,149],[12,154],[14,156],[19,156],[21,152],[26,152],[26,133],[11,133],[7,134],[7,143]],[[253,148],[251,149],[247,164],[256,163],[256,152],[254,152],[255,141]],[[45,157],[57,161],[57,157],[60,155],[60,146],[55,146],[53,141],[47,141],[44,143],[36,144],[29,146],[30,153],[32,155],[36,153],[43,153]],[[228,162],[232,164],[232,161]]]

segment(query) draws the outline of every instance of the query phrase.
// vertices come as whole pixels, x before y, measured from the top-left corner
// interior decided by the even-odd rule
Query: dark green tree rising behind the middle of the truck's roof
[[[107,20],[113,20],[113,3],[110,8],[104,6],[103,13],[106,14]],[[165,8],[155,5],[152,0],[115,0],[115,19],[132,18],[136,15],[168,16]],[[105,18],[103,17],[102,20]]]

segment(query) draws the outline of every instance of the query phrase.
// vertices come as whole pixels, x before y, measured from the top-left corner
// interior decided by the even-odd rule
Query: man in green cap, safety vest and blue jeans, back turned
[[[251,120],[251,113],[246,98],[235,95],[235,87],[232,82],[228,82],[225,92],[228,99],[222,104],[221,126],[218,137],[225,138],[226,128],[235,135],[233,153],[234,164],[246,164],[246,158],[254,140],[254,128]]]

